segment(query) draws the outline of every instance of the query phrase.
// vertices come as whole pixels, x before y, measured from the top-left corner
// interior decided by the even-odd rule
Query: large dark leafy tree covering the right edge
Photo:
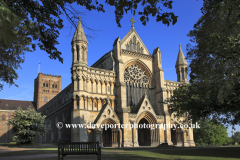
[[[239,0],[204,0],[203,16],[188,34],[194,43],[187,46],[191,85],[180,87],[171,99],[179,113],[239,124],[239,5]]]

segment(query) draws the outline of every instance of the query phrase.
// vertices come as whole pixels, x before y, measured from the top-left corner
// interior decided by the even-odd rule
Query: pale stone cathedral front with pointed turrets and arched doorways
[[[168,104],[161,103],[173,90],[188,83],[187,62],[181,46],[176,61],[177,81],[164,79],[161,51],[150,53],[134,28],[123,39],[113,42],[112,50],[91,67],[88,66],[88,41],[79,18],[72,39],[72,83],[45,105],[37,106],[46,115],[51,131],[40,142],[92,142],[103,147],[169,145],[194,146],[193,129],[178,128],[93,128],[101,124],[175,124],[186,116],[176,117]],[[41,85],[41,84],[40,84]],[[39,89],[40,91],[41,89]],[[56,127],[82,124],[83,128]]]

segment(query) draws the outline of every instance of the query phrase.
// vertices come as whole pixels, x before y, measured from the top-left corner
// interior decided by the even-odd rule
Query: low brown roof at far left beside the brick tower
[[[33,101],[0,99],[0,110],[17,110],[18,107],[21,107],[23,110],[27,108],[35,109],[34,105]]]

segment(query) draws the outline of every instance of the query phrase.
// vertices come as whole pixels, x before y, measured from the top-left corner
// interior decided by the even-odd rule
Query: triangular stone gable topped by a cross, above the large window
[[[138,53],[150,55],[147,47],[145,46],[145,44],[143,43],[143,41],[141,40],[141,38],[139,37],[139,35],[137,34],[137,32],[134,28],[132,28],[127,33],[127,35],[120,41],[121,48],[125,49],[125,50],[128,50],[128,48],[130,46],[130,43],[131,43],[131,45],[133,45],[134,37],[136,38],[136,40],[135,40],[135,43],[136,43],[135,44],[135,51],[138,52]],[[142,49],[142,52],[137,49],[137,45],[138,45],[139,49]]]

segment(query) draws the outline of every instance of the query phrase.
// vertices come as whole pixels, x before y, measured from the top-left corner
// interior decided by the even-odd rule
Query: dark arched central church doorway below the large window
[[[148,123],[148,121],[143,118],[138,123],[138,143],[139,146],[151,146],[151,134],[150,128],[144,128]]]

